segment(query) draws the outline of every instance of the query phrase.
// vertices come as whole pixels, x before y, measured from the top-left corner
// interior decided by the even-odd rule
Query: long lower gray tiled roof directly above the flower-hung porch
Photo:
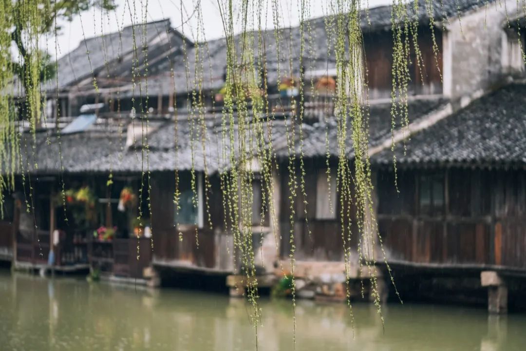
[[[409,103],[410,121],[441,106],[441,99],[416,100]],[[369,108],[369,143],[376,145],[388,138],[391,133],[390,104],[373,105]],[[367,115],[365,115],[367,116]],[[228,168],[230,164],[230,149],[234,157],[239,154],[237,141],[239,128],[237,125],[230,129],[227,122],[224,137],[221,127],[220,114],[213,119],[206,119],[205,128],[201,125],[199,117],[191,122],[183,118],[177,121],[177,152],[176,132],[174,121],[150,121],[147,136],[147,148],[143,148],[141,130],[143,125],[135,122],[138,128],[133,146],[126,144],[126,128],[122,132],[109,132],[104,126],[95,126],[86,132],[57,136],[54,132],[39,132],[35,138],[25,133],[21,138],[24,169],[29,166],[29,171],[34,173],[60,172],[60,156],[64,172],[142,172],[187,170],[197,169],[215,173]],[[125,123],[125,121],[123,121]],[[131,122],[130,122],[131,123]],[[262,138],[264,147],[270,147],[268,129],[271,128],[272,151],[277,158],[289,156],[288,143],[291,142],[292,129],[290,119],[274,120],[262,123]],[[122,127],[126,127],[125,125]],[[248,126],[247,128],[251,128]],[[313,125],[302,124],[302,141],[300,147],[299,126],[296,125],[293,152],[299,156],[300,151],[304,157],[338,157],[338,126],[333,118],[328,118],[328,123]],[[205,142],[203,144],[203,130]],[[234,136],[234,146],[230,146],[230,132]],[[346,133],[346,152],[353,157],[351,141],[351,124],[348,123]],[[254,129],[246,132],[245,140],[248,143],[246,152],[250,150],[250,143],[255,143],[256,138],[250,136]],[[130,136],[131,137],[131,136]],[[261,136],[260,136],[261,137]],[[261,140],[259,138],[258,140]],[[254,144],[252,144],[254,145]],[[203,150],[204,147],[204,150]],[[28,161],[29,162],[28,162]],[[206,165],[205,165],[206,163]]]

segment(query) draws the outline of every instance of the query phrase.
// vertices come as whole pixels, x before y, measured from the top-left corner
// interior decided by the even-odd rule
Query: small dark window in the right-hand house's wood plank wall
[[[444,213],[444,176],[426,174],[419,177],[418,208],[420,215]]]

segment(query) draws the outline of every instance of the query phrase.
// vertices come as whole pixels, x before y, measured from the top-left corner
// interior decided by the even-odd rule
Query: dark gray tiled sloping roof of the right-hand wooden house
[[[526,85],[512,84],[411,136],[395,148],[398,164],[526,164]],[[392,164],[390,149],[373,156]]]

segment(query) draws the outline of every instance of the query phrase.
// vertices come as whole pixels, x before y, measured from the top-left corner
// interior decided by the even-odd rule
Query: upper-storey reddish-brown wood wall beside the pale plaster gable
[[[441,94],[442,82],[442,32],[434,29],[435,42],[438,53],[433,53],[433,39],[429,27],[418,28],[418,49],[421,64],[417,63],[416,49],[413,45],[413,36],[408,37],[411,49],[409,53],[409,95]],[[402,38],[402,40],[405,40]],[[388,98],[392,88],[393,66],[393,33],[381,31],[363,33],[363,46],[365,50],[365,63],[369,85],[369,98]]]

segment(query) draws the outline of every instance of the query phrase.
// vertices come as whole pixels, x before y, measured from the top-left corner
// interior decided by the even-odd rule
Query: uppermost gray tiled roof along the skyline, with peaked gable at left
[[[457,16],[471,9],[485,6],[495,0],[433,0],[433,14],[438,21],[442,18]],[[418,12],[415,14],[416,18],[422,23],[427,23],[429,20],[428,6],[429,2],[426,0],[419,0]],[[414,7],[408,4],[408,13],[412,16]],[[381,29],[388,29],[391,26],[391,6],[381,6],[371,8],[367,11],[362,11],[360,14],[361,27],[364,31],[377,31]],[[305,48],[302,57],[302,65],[305,67],[306,74],[309,71],[319,71],[324,69],[333,69],[335,67],[335,57],[331,53],[330,47],[334,47],[333,29],[330,28],[329,23],[326,22],[327,17],[319,17],[309,20],[304,26],[304,40]],[[413,17],[411,17],[413,18]],[[333,24],[332,24],[333,25]],[[166,46],[166,43],[158,43],[152,39],[159,33],[166,32],[169,21],[159,21],[149,23],[147,25],[148,61],[151,61],[156,55],[160,57],[162,48],[177,46],[179,43],[173,42]],[[329,28],[327,28],[329,26]],[[143,35],[141,34],[142,25],[136,25],[136,38],[140,44]],[[307,29],[309,28],[309,29]],[[105,35],[104,43],[106,45],[106,57],[102,50],[102,39],[91,38],[87,39],[88,49],[90,52],[91,66],[95,72],[100,71],[100,81],[106,77],[106,72],[102,69],[105,62],[112,61],[120,52],[131,50],[132,36],[131,27],[126,27],[123,33],[119,36],[118,33]],[[267,81],[273,84],[278,81],[278,77],[298,75],[299,74],[299,57],[301,44],[300,27],[282,28],[279,31],[279,40],[276,41],[276,32],[274,30],[263,31],[261,33],[251,33],[254,40],[251,45],[255,55],[255,61],[262,60],[265,57]],[[265,43],[264,48],[258,47],[259,35],[261,41]],[[238,51],[241,43],[241,36],[235,37]],[[148,65],[148,79],[147,83],[131,85],[131,77],[124,76],[123,73],[130,73],[130,63],[114,62],[111,65],[110,77],[120,77],[115,84],[123,86],[120,91],[121,97],[131,95],[146,96],[146,89],[148,95],[157,96],[159,94],[167,95],[171,89],[175,93],[183,94],[189,89],[196,88],[196,84],[200,84],[200,88],[204,90],[219,89],[224,85],[223,73],[227,62],[227,45],[226,39],[220,38],[208,41],[207,43],[197,43],[194,45],[187,45],[186,58],[182,50],[173,50],[167,54],[166,58],[158,59],[156,62],[150,62]],[[157,50],[157,51],[156,51]],[[166,52],[166,51],[165,51]],[[155,53],[155,54],[154,54]],[[278,54],[279,53],[279,54]],[[198,55],[196,55],[198,54]],[[196,57],[200,57],[196,62]],[[114,60],[115,61],[115,60]],[[292,63],[290,65],[290,63]],[[76,81],[79,77],[90,75],[90,65],[86,57],[86,49],[84,43],[81,43],[77,49],[72,53],[65,55],[59,60],[59,87],[66,87],[68,84]],[[120,66],[119,66],[120,65]],[[196,69],[196,67],[198,69]],[[292,68],[292,72],[290,71]],[[171,69],[173,68],[173,73]],[[195,72],[202,74],[201,77],[196,77]],[[174,77],[172,79],[172,76]],[[54,82],[53,82],[54,83]],[[108,85],[109,86],[109,85]],[[50,84],[50,88],[54,88],[54,84]]]

